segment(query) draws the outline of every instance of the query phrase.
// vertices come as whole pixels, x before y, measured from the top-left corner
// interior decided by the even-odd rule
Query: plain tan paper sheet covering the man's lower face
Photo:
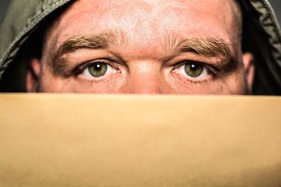
[[[281,97],[0,95],[0,186],[281,186]]]

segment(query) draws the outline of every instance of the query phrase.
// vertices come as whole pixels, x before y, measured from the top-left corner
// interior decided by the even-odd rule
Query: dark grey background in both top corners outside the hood
[[[10,1],[11,0],[0,0],[0,22],[6,12],[6,9]],[[279,21],[279,25],[281,25],[281,1],[280,0],[269,0],[269,1],[276,13],[277,19]]]

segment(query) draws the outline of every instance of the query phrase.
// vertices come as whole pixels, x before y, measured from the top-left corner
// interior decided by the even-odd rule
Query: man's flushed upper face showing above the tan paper
[[[48,29],[27,90],[246,94],[240,21],[235,1],[75,1]]]

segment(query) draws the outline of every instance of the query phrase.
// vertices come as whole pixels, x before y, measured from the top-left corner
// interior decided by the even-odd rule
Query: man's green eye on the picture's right
[[[181,67],[178,67],[176,71],[195,80],[204,79],[208,76],[207,67],[204,64],[197,62],[187,62],[181,65]]]

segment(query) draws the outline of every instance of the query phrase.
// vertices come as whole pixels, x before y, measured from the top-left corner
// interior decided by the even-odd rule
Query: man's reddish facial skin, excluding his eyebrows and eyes
[[[240,51],[239,29],[234,24],[234,1],[207,0],[79,0],[75,1],[48,29],[45,39],[39,91],[92,93],[245,94],[247,78]],[[79,50],[68,55],[70,64],[119,54],[126,67],[96,81],[82,75],[63,78],[52,73],[50,59],[60,43],[74,35],[122,30],[126,43],[104,50]],[[219,78],[202,83],[188,81],[164,65],[168,55],[186,60],[204,60],[194,54],[164,49],[167,34],[184,38],[220,38],[230,43],[238,66]],[[176,64],[176,62],[174,62]]]

